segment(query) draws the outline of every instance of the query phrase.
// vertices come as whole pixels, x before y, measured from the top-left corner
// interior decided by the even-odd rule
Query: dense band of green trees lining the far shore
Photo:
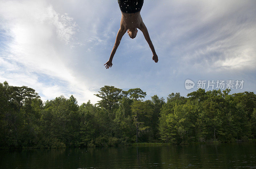
[[[135,142],[229,142],[256,137],[256,95],[198,89],[143,101],[140,88],[104,86],[101,100],[42,102],[34,89],[0,83],[0,147],[115,146]]]

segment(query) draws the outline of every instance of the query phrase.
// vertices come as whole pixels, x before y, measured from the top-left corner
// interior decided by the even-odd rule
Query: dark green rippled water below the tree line
[[[0,150],[0,168],[256,168],[256,143]]]

